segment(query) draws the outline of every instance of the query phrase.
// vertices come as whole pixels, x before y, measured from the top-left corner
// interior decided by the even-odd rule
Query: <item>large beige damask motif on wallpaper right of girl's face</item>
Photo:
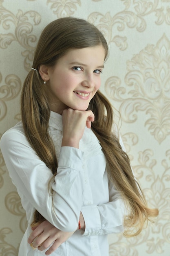
[[[120,103],[119,111],[125,122],[135,122],[137,112],[145,112],[145,126],[160,144],[170,135],[169,59],[170,41],[163,35],[156,46],[147,45],[127,62],[125,86],[115,76],[105,85],[108,96]]]

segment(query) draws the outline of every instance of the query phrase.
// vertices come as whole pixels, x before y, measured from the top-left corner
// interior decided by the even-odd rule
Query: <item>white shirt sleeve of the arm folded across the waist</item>
[[[121,136],[116,128],[119,143],[126,152]],[[109,202],[99,205],[82,206],[82,215],[85,220],[84,236],[119,233],[124,230],[124,216],[127,214],[125,203],[115,186],[109,182]]]

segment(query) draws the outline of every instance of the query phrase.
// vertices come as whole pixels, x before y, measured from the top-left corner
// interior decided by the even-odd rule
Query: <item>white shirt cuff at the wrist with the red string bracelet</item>
[[[84,205],[81,209],[84,221],[85,231],[80,231],[84,236],[99,235],[101,232],[101,218],[97,205]]]

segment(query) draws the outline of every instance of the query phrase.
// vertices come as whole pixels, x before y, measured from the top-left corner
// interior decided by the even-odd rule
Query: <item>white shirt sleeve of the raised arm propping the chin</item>
[[[61,148],[57,175],[52,184],[54,193],[51,195],[48,185],[53,174],[31,148],[23,132],[8,130],[2,135],[0,147],[13,184],[20,197],[24,195],[24,209],[28,207],[28,201],[58,229],[75,231],[84,186],[82,151],[72,147]]]

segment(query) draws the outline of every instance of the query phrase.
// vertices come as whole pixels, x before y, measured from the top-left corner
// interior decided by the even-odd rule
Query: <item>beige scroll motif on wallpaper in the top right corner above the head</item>
[[[139,32],[146,30],[146,17],[154,13],[157,20],[157,25],[162,25],[166,22],[170,25],[170,6],[160,3],[159,0],[120,0],[124,3],[124,10],[119,11],[114,16],[110,12],[99,13],[93,12],[88,16],[88,20],[94,23],[98,29],[102,31],[108,43],[115,43],[120,50],[126,50],[128,41],[126,36],[115,35],[115,31],[124,31],[126,27],[137,29]],[[162,0],[169,2],[169,0]],[[111,2],[110,2],[111,7]]]

